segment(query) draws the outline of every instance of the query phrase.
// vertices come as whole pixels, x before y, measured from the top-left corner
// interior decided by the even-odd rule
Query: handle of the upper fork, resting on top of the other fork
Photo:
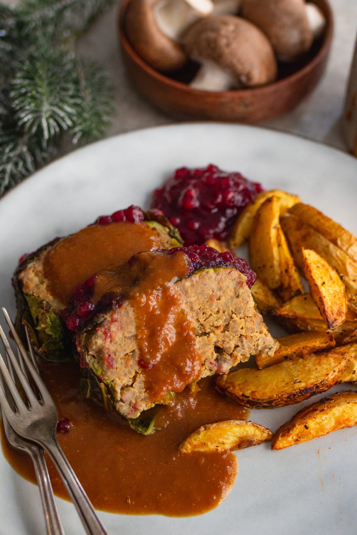
[[[43,442],[42,446],[54,462],[88,535],[109,535],[60,448],[56,436]]]

